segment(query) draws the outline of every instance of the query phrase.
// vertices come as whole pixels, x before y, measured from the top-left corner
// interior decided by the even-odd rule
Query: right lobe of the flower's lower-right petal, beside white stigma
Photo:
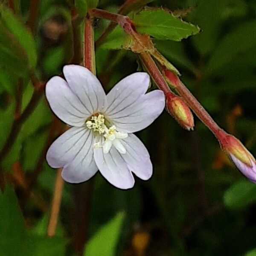
[[[152,176],[153,167],[143,143],[134,134],[128,134],[128,137],[122,140],[122,144],[126,149],[122,157],[129,170],[142,180],[148,180]]]

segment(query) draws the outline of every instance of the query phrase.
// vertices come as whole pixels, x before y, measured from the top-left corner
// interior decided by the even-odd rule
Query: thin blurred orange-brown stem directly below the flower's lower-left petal
[[[47,227],[47,236],[55,236],[55,230],[58,223],[58,214],[61,206],[61,196],[64,186],[64,180],[61,177],[62,168],[59,168],[55,180],[54,194],[52,198],[52,208],[50,212],[49,224]]]

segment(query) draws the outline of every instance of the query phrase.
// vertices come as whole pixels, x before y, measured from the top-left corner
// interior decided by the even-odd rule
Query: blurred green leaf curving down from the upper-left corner
[[[36,67],[37,52],[33,36],[10,9],[3,4],[0,5],[0,23],[17,39],[20,46],[26,52],[29,68],[34,69]]]

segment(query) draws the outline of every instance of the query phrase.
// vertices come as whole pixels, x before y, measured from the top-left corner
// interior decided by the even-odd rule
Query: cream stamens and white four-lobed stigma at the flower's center
[[[91,118],[85,122],[85,124],[88,129],[92,129],[94,132],[103,135],[105,138],[103,145],[100,145],[99,142],[96,142],[93,144],[94,148],[103,147],[104,154],[107,154],[110,151],[112,145],[114,145],[120,154],[126,153],[125,147],[122,145],[120,140],[127,138],[128,134],[116,131],[116,126],[111,126],[110,122],[105,119],[104,115],[96,113],[95,115],[91,116]]]

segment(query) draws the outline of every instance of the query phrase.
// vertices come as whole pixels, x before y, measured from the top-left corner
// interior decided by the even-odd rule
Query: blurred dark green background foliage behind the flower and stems
[[[23,25],[29,23],[29,1],[11,2],[16,16],[0,6],[0,145],[17,100],[23,110],[32,97],[29,71],[47,81],[64,64],[81,61],[72,59],[82,41],[72,1],[35,1],[35,36]],[[100,0],[98,8],[116,12],[123,2]],[[256,155],[255,0],[155,0],[148,6],[168,8],[201,28],[182,41],[154,38],[154,44],[218,124]],[[96,39],[107,24],[94,21]],[[97,75],[107,91],[140,68],[134,53],[114,50],[120,39],[114,33],[96,48]],[[100,174],[84,184],[65,183],[57,232],[49,238],[56,171],[44,157],[62,124],[40,99],[1,159],[11,185],[0,194],[0,255],[256,255],[256,185],[195,120],[195,131],[184,131],[164,112],[137,134],[151,154],[154,175],[137,178],[133,189],[116,189]]]

